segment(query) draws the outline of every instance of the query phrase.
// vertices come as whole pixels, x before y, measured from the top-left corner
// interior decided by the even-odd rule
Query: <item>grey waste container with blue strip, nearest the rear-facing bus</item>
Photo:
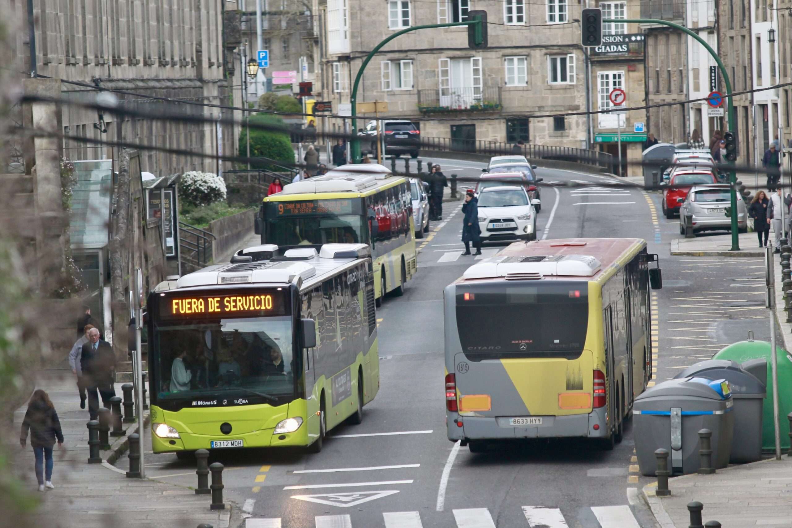
[[[669,379],[635,398],[633,431],[641,473],[657,471],[655,450],[668,450],[668,469],[695,473],[699,469],[699,431],[712,431],[715,468],[729,464],[732,448],[732,395],[725,380]]]

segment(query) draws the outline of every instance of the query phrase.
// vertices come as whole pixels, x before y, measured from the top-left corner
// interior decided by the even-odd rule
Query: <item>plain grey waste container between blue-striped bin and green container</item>
[[[748,368],[756,368],[749,365]],[[767,364],[761,360],[761,363]],[[761,380],[749,373],[744,366],[730,359],[707,359],[687,367],[676,378],[699,376],[707,379],[725,379],[732,389],[734,401],[734,432],[732,454],[729,462],[744,464],[762,459],[762,417],[764,398],[767,396],[767,367]]]

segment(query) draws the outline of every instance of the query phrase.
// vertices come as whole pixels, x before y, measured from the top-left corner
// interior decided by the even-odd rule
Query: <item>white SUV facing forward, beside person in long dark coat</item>
[[[482,241],[536,240],[536,211],[523,187],[487,187],[478,194]]]

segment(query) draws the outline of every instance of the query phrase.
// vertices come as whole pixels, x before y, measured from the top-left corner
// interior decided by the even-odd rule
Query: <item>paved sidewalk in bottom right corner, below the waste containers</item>
[[[714,475],[683,475],[669,479],[671,496],[657,497],[657,483],[644,488],[646,500],[661,528],[687,528],[687,503],[703,503],[703,520],[723,528],[792,526],[792,458],[763,460],[718,469]]]

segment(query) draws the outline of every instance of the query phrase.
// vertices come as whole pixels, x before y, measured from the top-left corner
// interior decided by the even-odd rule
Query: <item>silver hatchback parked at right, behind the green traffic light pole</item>
[[[729,185],[696,185],[680,207],[680,234],[685,232],[685,215],[693,215],[693,232],[731,230],[732,219],[725,215],[730,205]],[[737,193],[737,227],[748,230],[748,207]]]

